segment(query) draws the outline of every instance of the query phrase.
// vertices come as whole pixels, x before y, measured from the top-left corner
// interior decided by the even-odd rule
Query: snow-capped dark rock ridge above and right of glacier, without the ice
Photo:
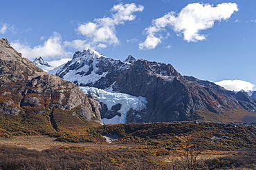
[[[170,64],[136,61],[131,56],[121,62],[93,50],[76,52],[57,75],[77,85],[147,98],[147,110],[127,114],[127,122],[194,120],[199,118],[196,111],[256,110],[256,100],[246,93],[235,94],[209,81],[182,76]]]

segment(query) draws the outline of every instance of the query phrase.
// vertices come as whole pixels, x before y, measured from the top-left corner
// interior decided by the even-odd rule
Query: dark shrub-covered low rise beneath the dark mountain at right
[[[139,143],[148,149],[172,149],[182,136],[193,136],[194,144],[203,150],[220,151],[254,149],[256,130],[252,125],[232,123],[147,123],[104,125],[95,128],[98,134],[116,134],[117,143]]]

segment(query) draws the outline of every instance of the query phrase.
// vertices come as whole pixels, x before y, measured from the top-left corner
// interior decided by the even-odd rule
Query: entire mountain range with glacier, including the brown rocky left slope
[[[170,64],[114,60],[89,49],[48,74],[36,66],[49,67],[42,57],[32,63],[0,40],[1,115],[39,114],[53,129],[62,111],[100,124],[256,122],[256,100],[246,92],[183,76]]]

